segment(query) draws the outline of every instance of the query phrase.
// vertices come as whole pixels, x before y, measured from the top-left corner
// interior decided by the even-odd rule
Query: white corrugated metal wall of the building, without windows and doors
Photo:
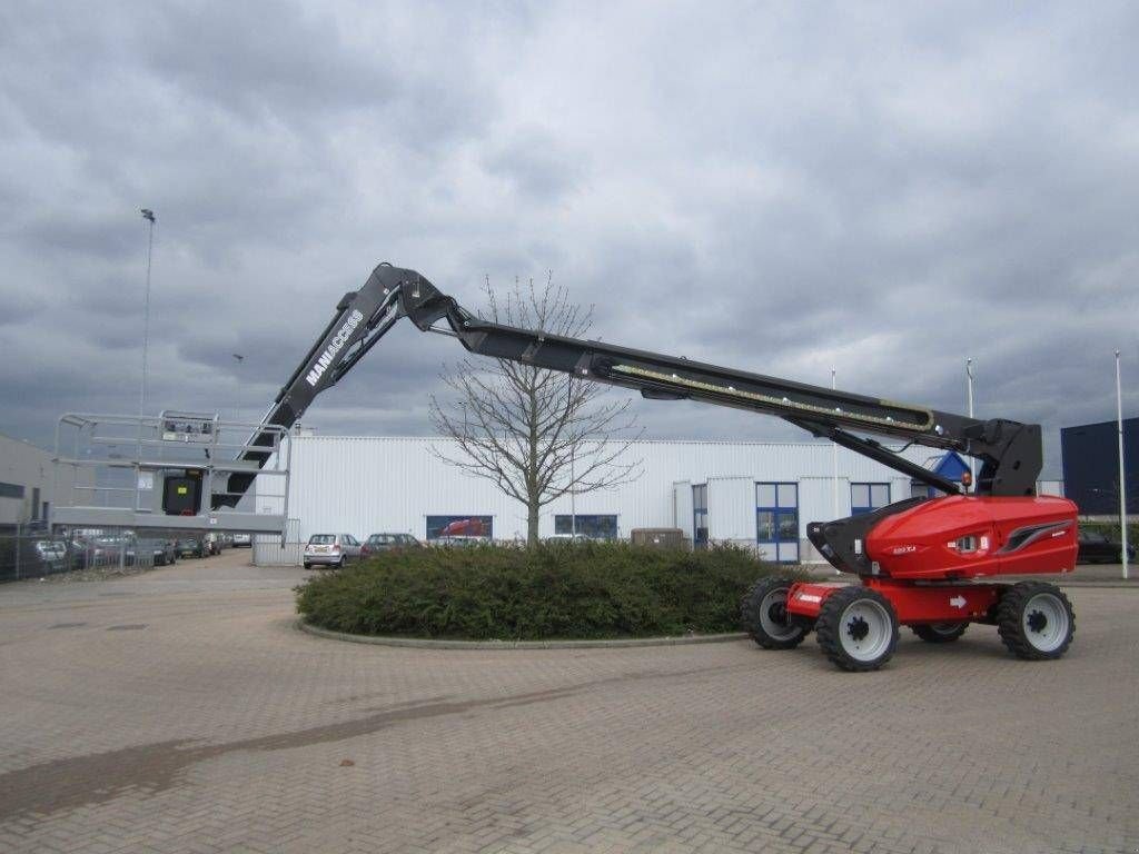
[[[301,536],[346,532],[358,537],[374,532],[408,532],[423,537],[426,517],[490,515],[494,536],[523,536],[525,508],[492,483],[470,477],[433,453],[454,453],[452,443],[434,438],[298,436],[293,441],[293,475],[288,515],[300,519]],[[833,512],[831,450],[822,443],[770,442],[638,442],[629,452],[644,474],[613,490],[579,495],[576,511],[615,514],[620,532],[634,527],[682,527],[675,498],[677,482],[708,483],[708,516],[713,539],[754,540],[755,481],[800,484],[800,525],[829,519]],[[927,449],[906,454],[915,461]],[[909,495],[909,482],[871,460],[838,452],[839,516],[850,511],[851,482],[890,482],[891,498]],[[265,478],[263,478],[265,479]],[[259,509],[273,507],[279,484],[259,483]],[[541,534],[554,533],[555,514],[568,514],[571,501],[559,499],[543,508]]]

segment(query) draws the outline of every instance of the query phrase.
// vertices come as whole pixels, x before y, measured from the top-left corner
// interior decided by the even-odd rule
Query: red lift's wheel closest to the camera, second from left
[[[878,670],[898,646],[894,607],[867,588],[842,588],[827,597],[814,627],[827,658],[854,673]]]

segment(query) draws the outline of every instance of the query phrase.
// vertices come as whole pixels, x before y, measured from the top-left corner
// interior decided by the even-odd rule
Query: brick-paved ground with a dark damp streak
[[[2,852],[1133,852],[1139,591],[1067,658],[995,631],[833,670],[813,639],[339,643],[247,552],[0,588]]]

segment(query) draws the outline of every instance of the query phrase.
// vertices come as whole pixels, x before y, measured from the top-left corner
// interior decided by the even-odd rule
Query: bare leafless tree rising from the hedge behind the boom
[[[485,318],[507,326],[581,338],[592,326],[592,307],[582,311],[552,274],[542,287],[515,281],[506,301],[486,280]],[[453,402],[434,395],[431,419],[436,432],[454,440],[453,455],[436,455],[492,481],[526,506],[526,541],[538,542],[542,507],[563,495],[614,487],[640,476],[640,460],[625,461],[640,437],[629,400],[600,400],[604,386],[567,373],[494,360],[465,359],[445,370]]]

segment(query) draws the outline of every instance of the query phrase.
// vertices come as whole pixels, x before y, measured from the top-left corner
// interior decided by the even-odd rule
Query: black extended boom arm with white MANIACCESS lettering
[[[345,294],[336,307],[331,322],[277,395],[264,424],[293,426],[318,394],[339,381],[400,318],[407,317],[423,331],[457,337],[472,353],[634,388],[649,399],[695,400],[776,416],[943,492],[957,492],[958,485],[851,430],[974,457],[982,462],[976,491],[988,495],[1032,495],[1043,461],[1039,425],[983,421],[683,358],[502,326],[478,319],[416,271],[390,264],[377,266],[364,286]],[[439,326],[440,321],[445,327]],[[243,452],[241,459],[263,466],[269,452],[256,449],[271,444],[271,437],[259,433],[249,444],[253,449]],[[216,495],[214,504],[236,504],[252,482],[252,474],[231,475],[227,492]]]

